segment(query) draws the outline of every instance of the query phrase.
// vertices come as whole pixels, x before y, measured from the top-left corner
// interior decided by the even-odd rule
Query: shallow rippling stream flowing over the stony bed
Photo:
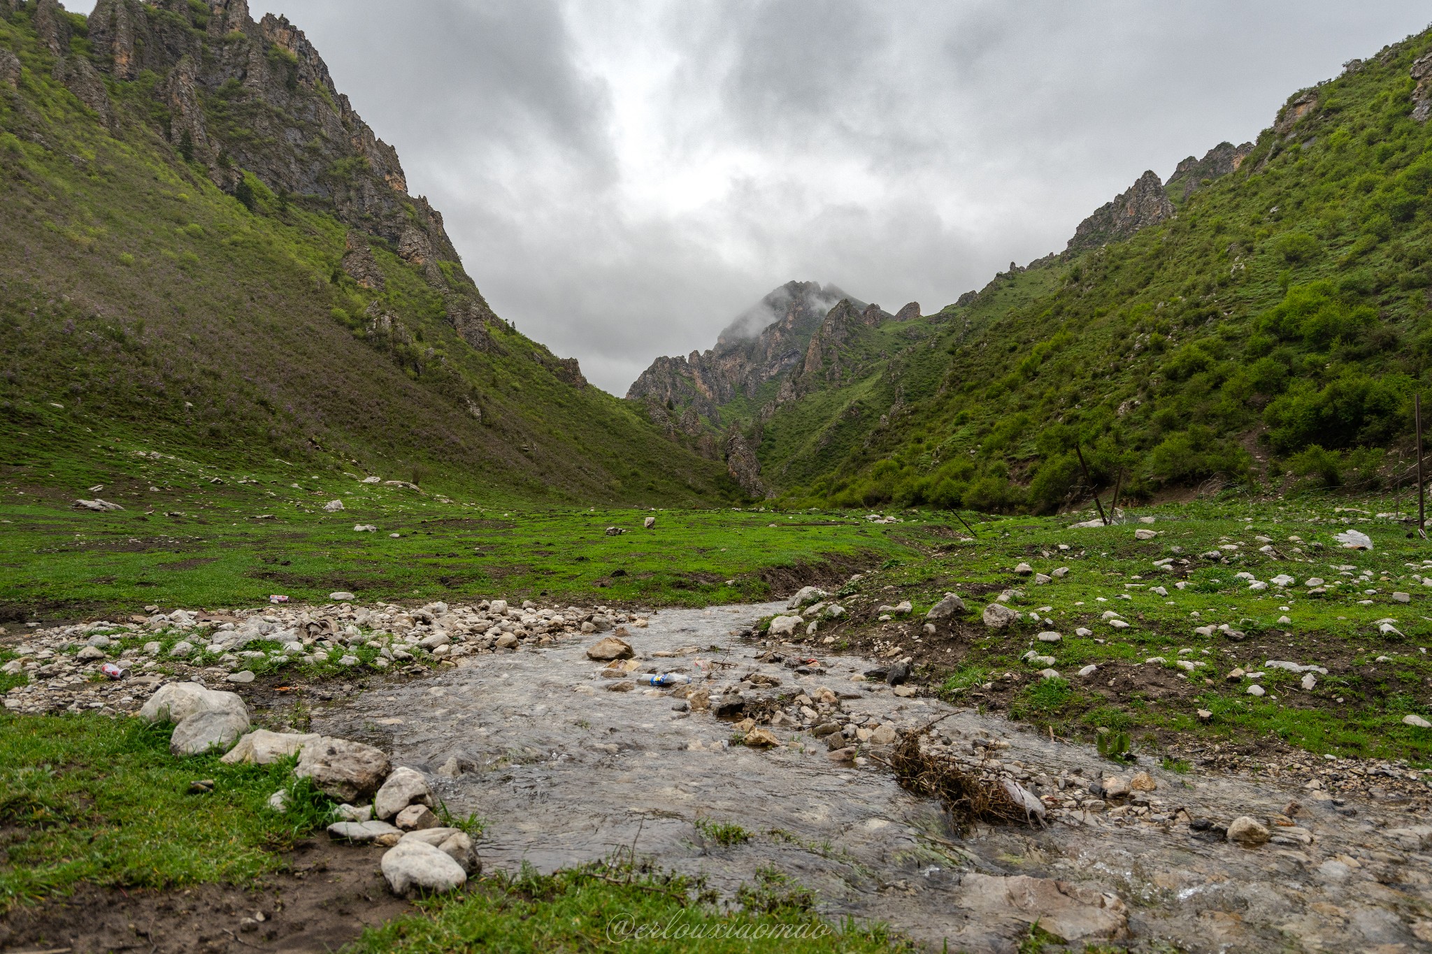
[[[779,678],[782,692],[825,685],[853,694],[845,711],[869,715],[868,725],[912,728],[948,715],[941,729],[1004,738],[1011,748],[1001,758],[1031,771],[1108,774],[1087,745],[852,682],[875,665],[869,659],[822,657],[825,672],[813,675],[756,662],[763,648],[732,631],[780,608],[666,609],[629,641],[647,662],[699,679],[715,674],[703,685],[752,672]],[[1117,894],[1128,907],[1128,943],[1143,950],[1163,941],[1189,951],[1432,951],[1432,858],[1383,834],[1425,825],[1425,818],[1392,810],[1382,817],[1376,807],[1346,818],[1330,802],[1305,801],[1312,820],[1299,821],[1313,844],[1259,850],[1200,840],[1176,822],[1100,815],[1042,830],[981,827],[961,837],[935,801],[901,790],[878,761],[832,762],[823,744],[789,727],[775,731],[803,745],[726,745],[730,722],[676,711],[680,699],[667,691],[607,691],[601,664],[584,655],[596,638],[467,657],[460,668],[335,704],[315,714],[312,728],[384,747],[394,764],[428,772],[454,814],[484,817],[480,848],[488,870],[527,862],[551,871],[634,848],[662,868],[703,875],[729,897],[759,868],[775,867],[818,891],[823,914],[885,921],[935,950],[947,938],[951,950],[1015,950],[1027,930],[1020,913],[968,903],[978,881],[971,875],[982,872]],[[454,758],[464,771],[437,774]],[[1266,817],[1297,794],[1244,778],[1180,777],[1147,759],[1140,768],[1157,778],[1170,811],[1183,807],[1196,818]],[[722,847],[697,830],[697,820],[740,825],[750,840]]]

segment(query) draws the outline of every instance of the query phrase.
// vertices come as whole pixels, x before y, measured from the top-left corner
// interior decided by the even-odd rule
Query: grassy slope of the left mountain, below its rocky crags
[[[586,386],[574,363],[483,315],[441,247],[420,267],[377,225],[341,222],[332,197],[271,190],[223,152],[208,167],[190,142],[170,143],[178,114],[155,72],[106,74],[107,116],[84,106],[56,79],[34,21],[33,4],[0,17],[0,56],[23,66],[13,87],[0,80],[6,466],[53,469],[122,445],[228,466],[359,468],[485,496],[696,503],[733,488],[719,465]],[[67,21],[74,63],[90,56],[86,21]],[[205,99],[211,132],[262,106],[241,99]],[[421,225],[425,205],[394,195],[397,215]],[[371,287],[344,267],[354,236],[381,272]],[[460,333],[474,312],[477,330]]]

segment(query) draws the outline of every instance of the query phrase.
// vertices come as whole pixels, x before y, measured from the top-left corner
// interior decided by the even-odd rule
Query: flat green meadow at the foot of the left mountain
[[[326,602],[334,591],[362,601],[709,605],[769,598],[800,566],[853,571],[914,552],[896,528],[845,515],[493,505],[361,483],[337,466],[155,461],[136,453],[145,446],[95,445],[84,462],[52,458],[0,473],[0,608],[10,618],[241,606],[271,594]],[[93,496],[126,509],[67,506]],[[332,499],[345,509],[324,512]],[[355,532],[358,523],[378,531]],[[609,526],[627,532],[607,536]]]

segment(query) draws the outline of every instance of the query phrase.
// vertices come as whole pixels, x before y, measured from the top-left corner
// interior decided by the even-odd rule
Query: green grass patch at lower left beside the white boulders
[[[278,851],[324,822],[329,802],[292,759],[225,765],[176,758],[169,728],[97,715],[0,714],[0,910],[79,882],[169,888],[248,884],[279,865]],[[189,784],[213,780],[209,794]],[[284,814],[265,807],[289,791]]]

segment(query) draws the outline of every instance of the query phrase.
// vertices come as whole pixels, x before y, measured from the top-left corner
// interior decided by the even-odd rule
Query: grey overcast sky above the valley
[[[1411,0],[249,3],[308,34],[497,313],[617,395],[790,279],[938,310],[1432,19]]]

